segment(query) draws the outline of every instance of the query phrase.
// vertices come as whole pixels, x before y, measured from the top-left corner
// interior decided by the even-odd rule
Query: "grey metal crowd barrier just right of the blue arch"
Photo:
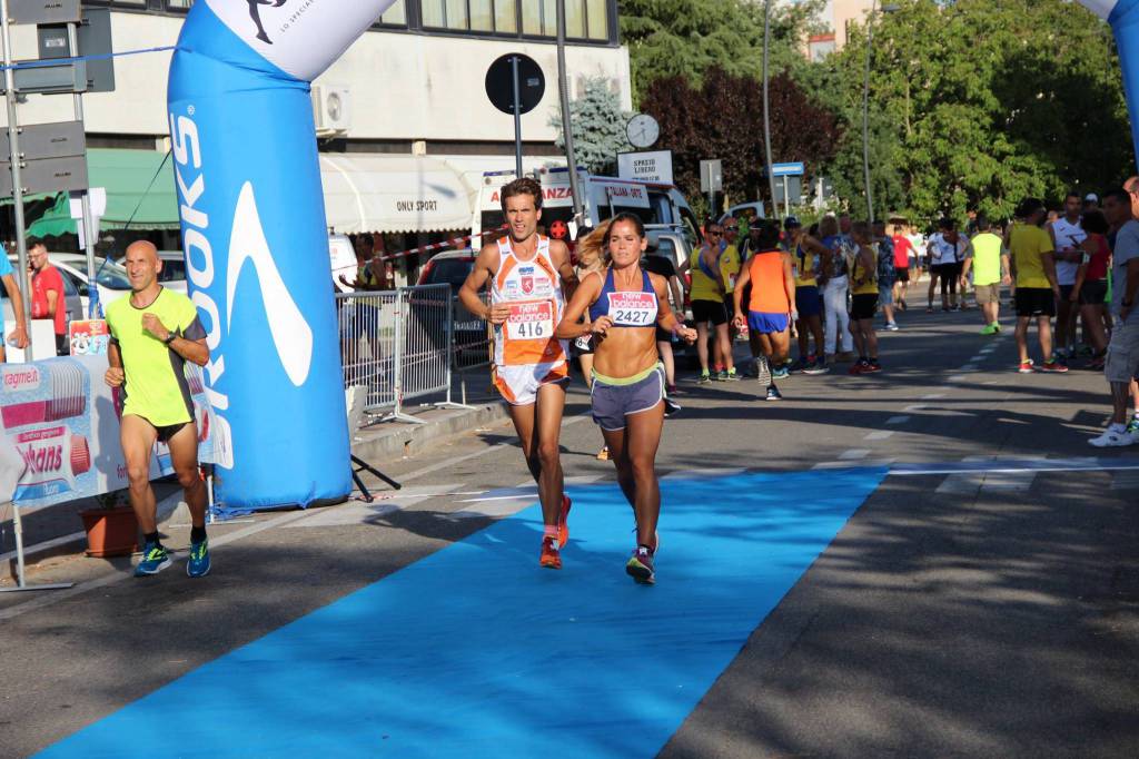
[[[403,411],[404,401],[444,394],[451,401],[454,303],[450,285],[337,293],[344,386],[367,389],[364,410],[384,421],[424,424]]]

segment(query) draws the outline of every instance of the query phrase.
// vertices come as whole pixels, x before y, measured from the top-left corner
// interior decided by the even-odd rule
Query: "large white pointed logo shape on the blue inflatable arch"
[[[277,346],[285,374],[300,387],[309,378],[312,365],[312,327],[304,320],[304,315],[289,295],[285,280],[277,270],[277,262],[269,250],[265,230],[261,226],[257,213],[257,201],[253,196],[253,183],[245,182],[237,198],[233,211],[233,234],[229,238],[229,270],[226,277],[227,288],[226,324],[229,330],[233,328],[233,293],[237,291],[237,278],[246,261],[253,261],[257,284],[261,285],[261,300],[269,317],[269,330]]]

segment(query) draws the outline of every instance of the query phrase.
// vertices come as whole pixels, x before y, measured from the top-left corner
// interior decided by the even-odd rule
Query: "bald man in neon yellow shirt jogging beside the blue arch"
[[[157,507],[150,488],[150,456],[161,440],[190,508],[190,577],[210,572],[206,490],[198,476],[198,431],[194,423],[186,362],[210,360],[206,332],[190,299],[158,284],[162,260],[145,240],[126,248],[131,294],[107,307],[110,345],[106,383],[125,389],[120,442],[126,459],[131,506],[146,536],[136,577],[157,574],[171,564],[158,539]]]

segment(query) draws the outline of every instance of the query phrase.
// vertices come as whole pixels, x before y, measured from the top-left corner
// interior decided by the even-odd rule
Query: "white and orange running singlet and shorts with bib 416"
[[[494,385],[507,402],[527,406],[536,400],[540,386],[570,376],[568,341],[554,336],[565,296],[548,237],[538,237],[538,252],[530,261],[517,256],[508,237],[498,246],[491,304],[509,304],[510,317],[494,327]]]

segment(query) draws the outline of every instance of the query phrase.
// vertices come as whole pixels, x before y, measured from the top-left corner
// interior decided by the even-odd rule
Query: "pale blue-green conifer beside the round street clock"
[[[587,79],[582,97],[570,103],[577,165],[592,173],[611,173],[616,165],[617,153],[632,149],[625,137],[625,124],[631,117],[631,113],[621,109],[621,99],[609,89],[608,80],[603,76]],[[551,111],[549,123],[558,130],[557,145],[565,150],[560,108]]]

